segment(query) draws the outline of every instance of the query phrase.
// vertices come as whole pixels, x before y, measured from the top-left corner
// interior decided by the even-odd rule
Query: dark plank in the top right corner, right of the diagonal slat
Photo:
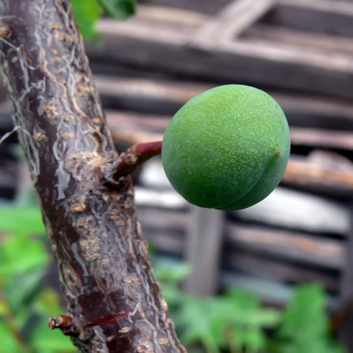
[[[353,4],[340,0],[279,0],[268,20],[293,28],[352,36]]]

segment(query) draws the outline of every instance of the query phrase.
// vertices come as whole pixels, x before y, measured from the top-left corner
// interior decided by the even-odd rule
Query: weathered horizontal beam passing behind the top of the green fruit
[[[195,82],[102,75],[96,75],[96,85],[108,107],[170,115],[191,98],[214,87]],[[280,104],[290,125],[353,130],[351,103],[276,91],[268,93]]]

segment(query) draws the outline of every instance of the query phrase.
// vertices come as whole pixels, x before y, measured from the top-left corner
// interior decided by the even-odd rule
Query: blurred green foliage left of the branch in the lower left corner
[[[70,338],[49,331],[63,309],[43,284],[51,255],[38,206],[0,208],[0,342],[7,353],[75,352]]]

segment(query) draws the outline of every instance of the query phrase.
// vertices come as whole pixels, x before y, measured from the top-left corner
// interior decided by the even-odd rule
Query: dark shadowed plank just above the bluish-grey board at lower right
[[[277,282],[303,283],[320,281],[331,292],[339,292],[338,274],[307,268],[301,264],[276,261],[247,252],[226,250],[222,256],[223,265],[250,275]]]

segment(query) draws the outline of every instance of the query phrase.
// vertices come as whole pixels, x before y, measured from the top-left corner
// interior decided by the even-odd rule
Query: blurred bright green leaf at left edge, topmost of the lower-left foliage
[[[39,207],[0,207],[0,232],[44,234]]]

